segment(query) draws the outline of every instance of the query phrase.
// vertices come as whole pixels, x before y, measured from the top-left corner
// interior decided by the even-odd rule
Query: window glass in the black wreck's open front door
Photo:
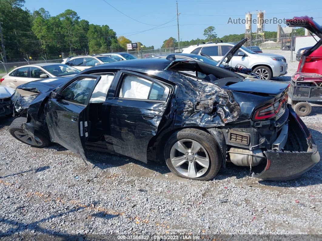
[[[65,100],[84,105],[95,80],[91,78],[77,79],[64,88],[61,95]]]

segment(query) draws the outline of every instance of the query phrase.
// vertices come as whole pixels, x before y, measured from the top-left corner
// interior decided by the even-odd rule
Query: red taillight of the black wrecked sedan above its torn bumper
[[[288,95],[285,94],[282,98],[280,98],[278,101],[276,101],[273,104],[269,104],[264,107],[260,107],[258,110],[256,110],[254,115],[255,121],[270,119],[272,117],[275,117],[279,111],[281,110],[283,104],[287,102]]]

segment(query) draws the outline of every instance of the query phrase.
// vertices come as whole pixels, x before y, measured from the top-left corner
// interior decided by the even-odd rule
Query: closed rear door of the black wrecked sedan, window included
[[[104,103],[105,140],[116,153],[147,162],[149,141],[165,120],[172,87],[131,71],[120,71]]]

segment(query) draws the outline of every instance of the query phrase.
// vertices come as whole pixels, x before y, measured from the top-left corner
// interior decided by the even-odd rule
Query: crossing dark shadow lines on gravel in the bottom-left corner
[[[98,202],[94,202],[93,204],[96,205],[96,204],[98,204]],[[59,239],[59,240],[79,240],[79,237],[81,237],[81,235],[71,235],[68,233],[63,233],[63,232],[52,230],[50,228],[48,228],[48,229],[43,228],[41,226],[44,222],[46,222],[49,219],[59,218],[63,215],[73,215],[73,213],[80,212],[81,210],[87,209],[89,207],[90,207],[90,205],[85,206],[85,207],[78,206],[78,207],[72,208],[71,210],[69,210],[67,212],[62,212],[57,215],[50,215],[47,218],[42,218],[39,221],[35,221],[32,223],[24,223],[24,222],[15,221],[13,219],[0,218],[0,224],[3,223],[3,224],[9,224],[11,226],[14,226],[14,227],[7,229],[5,232],[0,231],[0,239],[4,238],[4,237],[10,237],[10,240],[11,240],[14,238],[23,237],[26,240],[33,240],[34,238],[36,238],[37,240],[47,240],[49,238],[49,236],[51,236],[51,238],[48,240],[56,240],[56,239]],[[104,212],[98,212],[96,214],[93,214],[92,216],[99,217],[99,218],[105,218],[105,219],[111,219],[111,218],[118,217],[118,215],[106,214]],[[28,230],[28,233],[24,234],[24,235],[17,234],[19,232],[23,232],[24,230]],[[37,234],[32,234],[33,233],[32,231],[37,232]],[[52,236],[54,236],[54,238],[52,238]],[[41,238],[38,238],[38,237],[41,237]],[[82,239],[82,240],[84,240],[84,239]]]

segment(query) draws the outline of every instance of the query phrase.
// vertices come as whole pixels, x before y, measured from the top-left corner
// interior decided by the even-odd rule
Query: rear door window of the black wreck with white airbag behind
[[[135,75],[125,75],[118,97],[132,99],[166,100],[169,88]]]

